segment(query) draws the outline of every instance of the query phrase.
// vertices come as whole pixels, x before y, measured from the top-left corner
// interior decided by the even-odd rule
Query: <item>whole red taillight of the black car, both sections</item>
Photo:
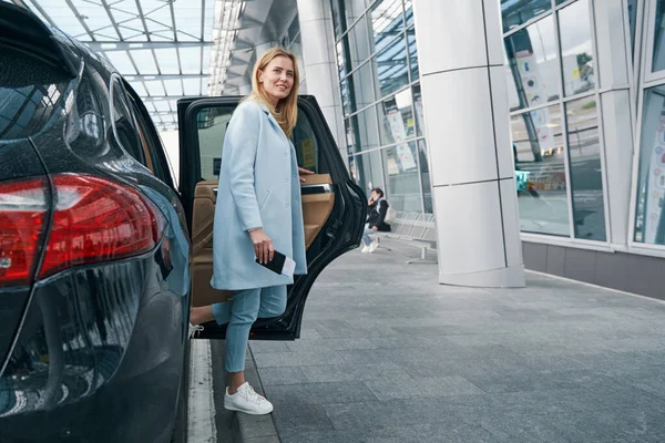
[[[45,178],[0,183],[0,287],[31,281],[48,224],[48,186]],[[53,220],[39,278],[149,253],[166,223],[135,189],[99,177],[57,175],[51,198]]]

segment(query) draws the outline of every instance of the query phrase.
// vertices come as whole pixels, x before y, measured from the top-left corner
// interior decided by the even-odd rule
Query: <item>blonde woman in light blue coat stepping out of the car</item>
[[[289,141],[298,116],[296,56],[273,48],[256,63],[252,93],[234,112],[224,138],[213,231],[211,285],[232,290],[223,303],[195,308],[192,324],[217,321],[226,330],[224,396],[227,410],[262,415],[273,404],[245,382],[249,329],[257,318],[280,316],[286,286],[293,279],[256,264],[275,250],[296,261],[296,275],[307,272],[296,152]]]

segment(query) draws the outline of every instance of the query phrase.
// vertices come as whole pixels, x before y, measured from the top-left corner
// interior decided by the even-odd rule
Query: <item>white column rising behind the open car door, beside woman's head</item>
[[[337,146],[346,158],[335,37],[329,0],[298,0],[304,76],[307,93],[316,96]]]

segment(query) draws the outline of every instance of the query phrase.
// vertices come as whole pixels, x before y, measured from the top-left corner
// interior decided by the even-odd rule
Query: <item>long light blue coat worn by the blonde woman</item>
[[[295,274],[307,274],[296,151],[270,112],[246,101],[235,110],[224,138],[213,230],[214,288],[293,284],[256,264],[248,230],[258,227],[275,250],[296,260]]]

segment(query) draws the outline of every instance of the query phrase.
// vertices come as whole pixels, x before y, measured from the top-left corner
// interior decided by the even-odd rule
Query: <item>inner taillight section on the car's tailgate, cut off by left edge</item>
[[[45,178],[0,183],[0,287],[30,282],[47,214]]]

